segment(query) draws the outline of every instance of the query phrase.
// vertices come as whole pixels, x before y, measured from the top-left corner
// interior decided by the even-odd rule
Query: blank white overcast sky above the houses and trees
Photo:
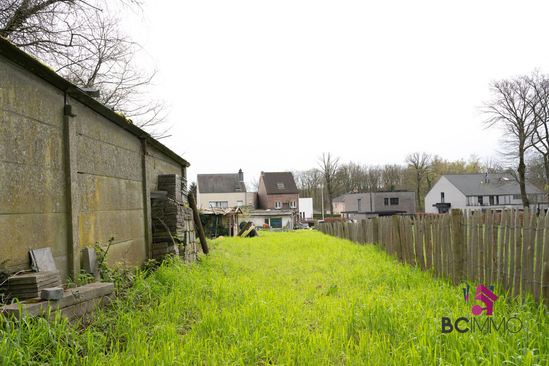
[[[494,154],[492,78],[549,71],[549,2],[153,1],[141,41],[199,173]]]

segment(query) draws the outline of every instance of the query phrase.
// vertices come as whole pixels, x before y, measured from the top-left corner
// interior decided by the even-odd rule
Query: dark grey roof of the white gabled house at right
[[[502,173],[444,174],[443,177],[466,196],[520,194],[520,186],[512,176]],[[503,178],[507,178],[503,179]],[[488,183],[486,183],[488,179]],[[526,193],[542,194],[541,190],[526,181]]]

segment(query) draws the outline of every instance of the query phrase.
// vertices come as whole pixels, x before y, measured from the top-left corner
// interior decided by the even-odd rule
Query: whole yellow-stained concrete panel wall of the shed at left
[[[64,280],[80,272],[82,249],[111,234],[109,263],[149,257],[150,190],[160,174],[186,178],[184,159],[2,38],[0,136],[9,272],[49,246]]]

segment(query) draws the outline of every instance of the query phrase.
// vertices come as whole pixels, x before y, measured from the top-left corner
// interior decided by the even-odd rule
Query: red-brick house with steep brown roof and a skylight
[[[257,206],[264,210],[294,211],[295,224],[299,212],[299,190],[291,172],[261,172],[257,188]]]

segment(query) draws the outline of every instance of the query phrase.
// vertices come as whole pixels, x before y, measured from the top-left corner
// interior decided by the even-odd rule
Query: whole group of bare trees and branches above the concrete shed
[[[169,105],[151,93],[157,71],[119,14],[142,13],[137,0],[0,0],[0,36],[76,86],[98,88],[99,102],[159,137]]]

